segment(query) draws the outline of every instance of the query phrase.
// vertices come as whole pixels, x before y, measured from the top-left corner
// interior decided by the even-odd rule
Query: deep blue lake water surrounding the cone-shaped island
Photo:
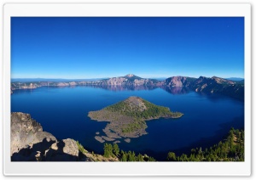
[[[11,111],[24,112],[40,122],[44,131],[56,138],[73,138],[85,149],[103,152],[103,143],[94,138],[107,122],[90,120],[90,110],[115,104],[130,96],[145,98],[151,103],[182,112],[180,119],[147,121],[147,135],[121,141],[120,149],[134,150],[165,158],[168,151],[177,155],[189,149],[206,148],[222,140],[230,127],[244,127],[244,103],[222,95],[203,95],[174,88],[153,90],[113,91],[96,87],[39,87],[32,90],[15,90],[11,95]]]

